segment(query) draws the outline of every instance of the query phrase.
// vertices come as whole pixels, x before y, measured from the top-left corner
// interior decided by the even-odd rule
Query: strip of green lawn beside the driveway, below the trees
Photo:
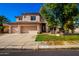
[[[61,35],[54,36],[48,34],[38,34],[36,37],[36,41],[55,41],[55,40],[79,40],[79,35]]]

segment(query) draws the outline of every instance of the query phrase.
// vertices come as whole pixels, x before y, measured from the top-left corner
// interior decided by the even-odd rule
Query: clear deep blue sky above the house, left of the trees
[[[11,22],[16,22],[15,16],[22,13],[39,13],[41,3],[0,3],[0,15],[6,16]]]

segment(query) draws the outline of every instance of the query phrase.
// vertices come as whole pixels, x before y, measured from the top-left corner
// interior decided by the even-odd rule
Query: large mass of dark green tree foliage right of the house
[[[49,24],[51,22],[51,27],[54,25],[57,26],[56,24],[53,25],[53,23],[58,23],[61,25],[62,30],[66,30],[65,26],[67,24],[66,28],[71,29],[72,33],[74,32],[74,18],[78,15],[78,13],[77,4],[73,3],[44,4],[40,10],[41,16],[46,19],[46,21],[48,20]]]

